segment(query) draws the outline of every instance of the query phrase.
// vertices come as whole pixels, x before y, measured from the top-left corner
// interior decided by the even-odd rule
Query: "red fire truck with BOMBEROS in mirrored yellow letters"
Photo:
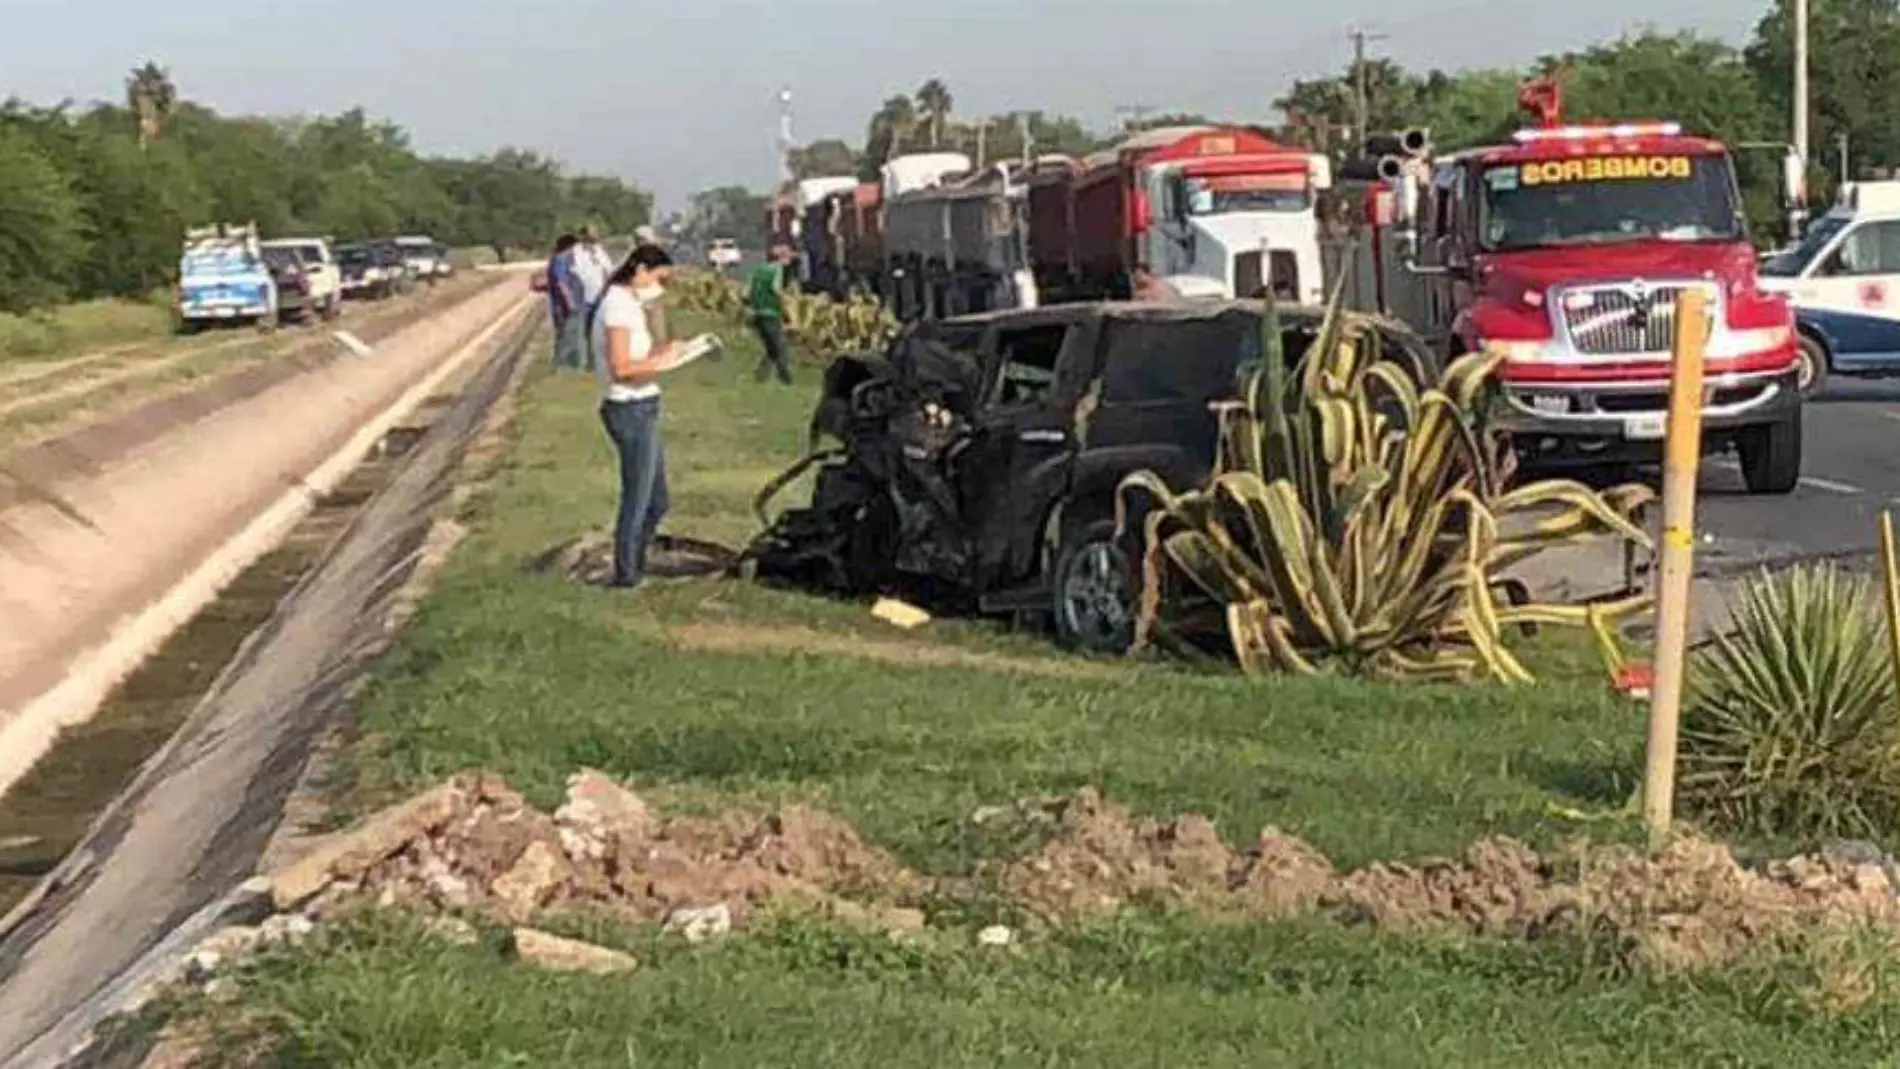
[[[1448,357],[1505,351],[1499,420],[1528,463],[1630,463],[1661,454],[1676,302],[1700,287],[1704,450],[1733,448],[1752,494],[1794,490],[1794,311],[1758,285],[1727,146],[1672,122],[1564,123],[1548,80],[1522,104],[1539,123],[1509,144],[1378,161],[1396,175],[1374,197],[1383,309]]]

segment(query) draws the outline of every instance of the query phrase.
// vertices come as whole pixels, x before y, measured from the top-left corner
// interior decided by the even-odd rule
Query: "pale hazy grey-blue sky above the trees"
[[[663,209],[775,180],[798,141],[861,141],[880,101],[942,78],[961,114],[1265,116],[1345,66],[1347,28],[1404,66],[1520,65],[1644,25],[1740,42],[1765,0],[0,0],[0,99],[120,99],[146,59],[220,112],[361,104],[426,152],[536,148]]]

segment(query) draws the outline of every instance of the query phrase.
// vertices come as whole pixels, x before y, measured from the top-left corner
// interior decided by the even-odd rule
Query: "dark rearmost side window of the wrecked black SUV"
[[[1113,319],[1102,370],[1104,404],[1205,403],[1233,391],[1235,370],[1260,353],[1260,321]]]

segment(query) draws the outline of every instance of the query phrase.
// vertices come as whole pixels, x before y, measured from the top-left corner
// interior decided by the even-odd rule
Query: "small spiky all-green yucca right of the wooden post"
[[[1689,663],[1683,801],[1731,826],[1885,837],[1900,716],[1875,587],[1834,564],[1763,573]]]

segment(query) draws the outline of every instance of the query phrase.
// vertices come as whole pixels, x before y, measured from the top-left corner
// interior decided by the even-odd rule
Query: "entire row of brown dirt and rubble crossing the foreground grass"
[[[446,807],[433,803],[443,792]],[[329,851],[357,858],[353,870],[319,881],[293,873],[287,883],[321,887],[308,904],[315,915],[376,902],[522,923],[543,910],[604,908],[669,927],[682,915],[718,911],[722,925],[743,927],[762,908],[798,906],[885,930],[922,927],[923,915],[908,906],[969,887],[902,868],[825,813],[661,818],[598,773],[576,775],[553,815],[483,775],[431,796],[428,807],[410,803],[426,816],[405,835],[390,837],[388,815],[401,809],[367,822],[378,843],[370,854],[348,843]],[[1039,826],[1043,849],[982,875],[1041,927],[1130,906],[1227,919],[1320,913],[1398,932],[1607,938],[1619,955],[1657,968],[1727,965],[1761,949],[1811,946],[1811,936],[1900,930],[1889,866],[1851,851],[1750,870],[1727,847],[1695,837],[1657,854],[1579,847],[1560,858],[1493,837],[1459,858],[1340,873],[1275,828],[1235,851],[1205,816],[1138,820],[1092,788],[986,809],[973,820]]]

